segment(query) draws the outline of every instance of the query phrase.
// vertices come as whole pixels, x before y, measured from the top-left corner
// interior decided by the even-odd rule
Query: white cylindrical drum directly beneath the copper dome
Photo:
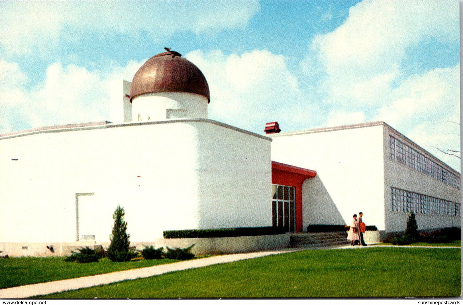
[[[166,118],[207,118],[207,98],[194,93],[161,92],[132,99],[132,122]]]

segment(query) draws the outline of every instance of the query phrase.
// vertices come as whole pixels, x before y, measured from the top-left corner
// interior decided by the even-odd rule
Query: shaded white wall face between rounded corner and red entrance
[[[270,139],[216,124],[197,128],[199,227],[271,226]]]

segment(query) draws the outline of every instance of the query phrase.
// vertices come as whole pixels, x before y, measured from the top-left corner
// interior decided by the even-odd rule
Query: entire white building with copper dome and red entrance
[[[460,174],[383,122],[263,136],[213,121],[204,75],[173,52],[119,85],[113,123],[0,135],[0,250],[105,244],[118,204],[146,244],[164,230],[303,232],[360,211],[386,232],[411,209],[419,229],[460,225]]]

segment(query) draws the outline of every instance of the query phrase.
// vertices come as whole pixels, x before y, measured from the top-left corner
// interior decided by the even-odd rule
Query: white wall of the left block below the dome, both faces
[[[0,242],[74,242],[76,193],[94,193],[84,214],[98,223],[97,243],[109,241],[117,204],[133,242],[163,230],[270,225],[269,148],[269,138],[207,119],[3,137]]]

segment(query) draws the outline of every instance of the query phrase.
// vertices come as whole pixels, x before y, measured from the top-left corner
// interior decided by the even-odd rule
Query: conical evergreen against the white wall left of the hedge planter
[[[108,255],[111,260],[114,257],[119,257],[118,253],[128,253],[130,234],[127,234],[127,222],[124,221],[124,208],[117,206],[113,214],[114,226],[109,240],[111,241],[108,248]]]

